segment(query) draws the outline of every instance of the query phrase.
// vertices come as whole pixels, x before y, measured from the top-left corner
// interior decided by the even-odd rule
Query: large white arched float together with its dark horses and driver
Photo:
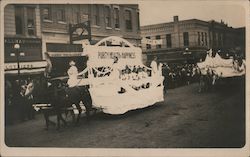
[[[108,114],[123,114],[164,100],[161,66],[152,70],[143,65],[142,50],[128,41],[114,36],[107,37],[95,45],[84,45],[82,55],[88,57],[87,67],[82,72],[78,73],[73,65],[68,70],[69,77],[50,80],[53,94],[48,97],[51,97],[50,101],[54,105],[46,107],[60,106],[56,101],[59,99],[70,101],[76,106],[73,109],[79,111],[79,118],[83,111],[80,103],[84,104],[88,116],[90,108]],[[66,93],[60,92],[65,90],[61,84],[65,80],[68,83]],[[34,107],[42,109],[44,106]],[[60,124],[62,112],[56,112]]]

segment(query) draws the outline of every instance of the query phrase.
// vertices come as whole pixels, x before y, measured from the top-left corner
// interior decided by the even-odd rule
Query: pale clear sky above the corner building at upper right
[[[202,1],[139,1],[140,25],[172,22],[173,16],[179,20],[200,19],[204,21],[223,20],[234,28],[246,26],[245,8],[242,3]]]

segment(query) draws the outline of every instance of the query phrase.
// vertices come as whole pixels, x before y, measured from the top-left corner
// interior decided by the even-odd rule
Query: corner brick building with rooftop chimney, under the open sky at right
[[[142,44],[147,62],[155,55],[161,62],[196,62],[210,48],[222,53],[245,52],[245,28],[232,28],[223,21],[179,21],[174,16],[173,22],[142,26],[141,36],[162,39],[161,45]]]

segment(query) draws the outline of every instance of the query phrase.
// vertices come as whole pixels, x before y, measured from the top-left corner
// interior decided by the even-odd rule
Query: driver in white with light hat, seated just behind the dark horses
[[[74,87],[77,85],[77,75],[78,75],[78,70],[77,67],[75,66],[75,62],[72,60],[69,62],[70,68],[67,71],[68,75],[69,75],[69,79],[68,79],[68,85],[69,87]]]

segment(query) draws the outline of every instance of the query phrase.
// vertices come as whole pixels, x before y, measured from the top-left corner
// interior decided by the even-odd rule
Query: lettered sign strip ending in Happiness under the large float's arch
[[[98,59],[113,59],[114,57],[134,59],[135,56],[135,52],[98,52]]]

